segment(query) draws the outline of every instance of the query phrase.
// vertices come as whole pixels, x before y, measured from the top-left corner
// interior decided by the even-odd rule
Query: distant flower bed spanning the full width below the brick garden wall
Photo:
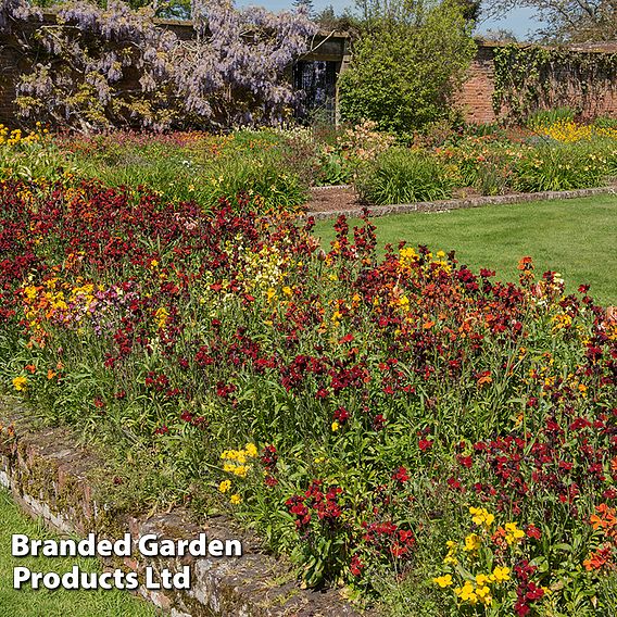
[[[241,191],[262,212],[298,211],[311,186],[351,182],[367,203],[453,194],[562,191],[617,178],[617,129],[571,121],[506,134],[466,127],[410,146],[365,123],[339,129],[237,130],[51,137],[42,129],[0,131],[0,177],[97,178],[144,185],[171,200],[213,207]],[[254,201],[254,200],[253,200]]]

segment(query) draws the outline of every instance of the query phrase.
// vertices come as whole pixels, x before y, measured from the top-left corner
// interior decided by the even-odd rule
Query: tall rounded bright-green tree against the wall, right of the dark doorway
[[[343,119],[372,119],[401,137],[452,113],[475,53],[461,3],[364,2],[364,33],[340,78]]]

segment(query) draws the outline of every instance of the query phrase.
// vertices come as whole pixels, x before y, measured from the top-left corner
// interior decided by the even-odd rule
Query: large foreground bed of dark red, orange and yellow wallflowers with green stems
[[[343,218],[324,253],[256,198],[5,180],[0,207],[4,386],[154,461],[150,505],[432,615],[617,605],[617,324],[585,287],[378,259]]]

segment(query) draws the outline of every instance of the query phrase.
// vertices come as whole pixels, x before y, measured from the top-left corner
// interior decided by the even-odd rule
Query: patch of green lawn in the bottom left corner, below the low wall
[[[26,517],[7,491],[0,490],[0,616],[1,617],[154,617],[155,609],[127,591],[48,591],[13,589],[13,568],[63,574],[77,565],[85,571],[100,571],[95,558],[12,557],[11,534],[56,538],[39,522]]]

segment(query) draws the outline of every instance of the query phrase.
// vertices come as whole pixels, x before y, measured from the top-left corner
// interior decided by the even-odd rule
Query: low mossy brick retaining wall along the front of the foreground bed
[[[2,429],[4,427],[4,429]],[[7,427],[12,427],[9,432]],[[0,484],[32,516],[62,533],[96,532],[112,540],[130,532],[136,538],[156,533],[168,539],[194,539],[205,531],[207,540],[239,539],[241,557],[142,557],[105,558],[104,565],[138,572],[147,566],[156,571],[177,571],[191,566],[191,589],[139,593],[173,617],[358,617],[354,608],[330,590],[303,590],[280,559],[260,552],[254,538],[232,529],[225,517],[213,517],[201,528],[181,508],[152,517],[116,513],[97,503],[96,471],[103,469],[96,453],[75,444],[58,428],[34,428],[24,407],[14,398],[0,398]],[[114,561],[115,559],[115,561]],[[365,614],[366,615],[366,614]]]

